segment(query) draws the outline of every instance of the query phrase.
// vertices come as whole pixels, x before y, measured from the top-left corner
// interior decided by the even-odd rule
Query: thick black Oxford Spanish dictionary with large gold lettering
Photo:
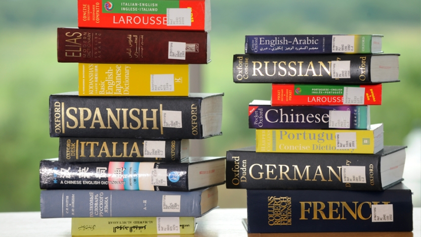
[[[189,97],[50,96],[51,137],[202,139],[221,135],[223,93]]]

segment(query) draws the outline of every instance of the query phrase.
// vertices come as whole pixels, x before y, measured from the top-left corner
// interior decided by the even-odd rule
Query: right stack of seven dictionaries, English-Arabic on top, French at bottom
[[[235,83],[271,83],[249,104],[256,146],[227,151],[227,188],[247,189],[249,233],[411,231],[405,147],[384,146],[369,105],[398,82],[382,35],[249,35]]]

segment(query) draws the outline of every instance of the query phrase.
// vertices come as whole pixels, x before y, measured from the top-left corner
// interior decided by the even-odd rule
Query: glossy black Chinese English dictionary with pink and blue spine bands
[[[181,163],[59,162],[39,164],[41,189],[191,191],[225,182],[225,157],[189,157]]]

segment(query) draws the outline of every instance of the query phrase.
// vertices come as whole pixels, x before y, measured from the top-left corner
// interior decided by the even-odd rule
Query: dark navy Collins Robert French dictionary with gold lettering
[[[249,233],[412,231],[411,191],[247,190],[247,221]]]

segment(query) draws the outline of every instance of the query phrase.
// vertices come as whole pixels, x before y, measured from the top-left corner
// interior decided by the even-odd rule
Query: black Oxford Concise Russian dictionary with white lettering
[[[399,54],[235,54],[235,83],[398,82]]]

